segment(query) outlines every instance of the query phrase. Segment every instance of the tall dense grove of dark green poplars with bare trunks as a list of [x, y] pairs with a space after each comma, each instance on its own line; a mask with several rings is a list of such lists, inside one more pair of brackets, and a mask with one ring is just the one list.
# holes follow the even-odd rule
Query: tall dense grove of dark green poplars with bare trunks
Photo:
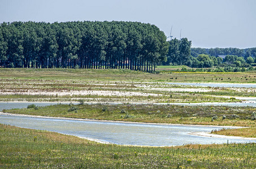
[[124, 68], [152, 71], [166, 59], [155, 25], [124, 21], [14, 22], [0, 25], [4, 68]]

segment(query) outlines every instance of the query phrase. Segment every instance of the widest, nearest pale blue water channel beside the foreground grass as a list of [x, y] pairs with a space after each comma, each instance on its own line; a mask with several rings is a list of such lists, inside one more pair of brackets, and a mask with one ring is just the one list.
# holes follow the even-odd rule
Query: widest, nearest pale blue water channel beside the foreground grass
[[59, 132], [121, 145], [173, 146], [184, 144], [256, 143], [256, 140], [223, 139], [189, 135], [222, 127], [85, 121], [0, 114], [0, 123]]

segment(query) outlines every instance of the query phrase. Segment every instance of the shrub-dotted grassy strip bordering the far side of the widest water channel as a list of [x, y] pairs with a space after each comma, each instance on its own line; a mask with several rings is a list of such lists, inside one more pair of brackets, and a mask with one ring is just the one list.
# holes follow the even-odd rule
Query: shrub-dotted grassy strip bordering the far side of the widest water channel
[[[136, 104], [51, 105], [36, 109], [3, 110], [6, 113], [49, 117], [86, 118], [130, 122], [256, 126], [252, 107], [178, 106]], [[225, 118], [223, 118], [225, 117]]]

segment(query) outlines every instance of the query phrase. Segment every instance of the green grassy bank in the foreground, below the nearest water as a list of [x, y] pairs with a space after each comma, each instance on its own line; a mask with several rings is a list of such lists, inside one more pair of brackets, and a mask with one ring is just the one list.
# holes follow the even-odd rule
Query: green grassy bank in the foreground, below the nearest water
[[255, 144], [136, 147], [0, 124], [0, 168], [255, 168]]

